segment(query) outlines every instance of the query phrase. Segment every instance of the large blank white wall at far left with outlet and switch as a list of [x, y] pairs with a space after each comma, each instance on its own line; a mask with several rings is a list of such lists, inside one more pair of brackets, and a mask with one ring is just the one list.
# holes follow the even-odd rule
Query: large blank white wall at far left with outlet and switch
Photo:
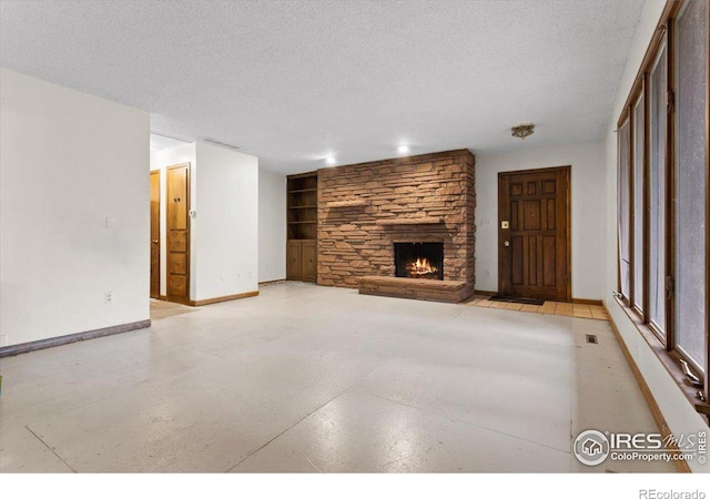
[[149, 114], [4, 69], [0, 101], [3, 345], [148, 319]]

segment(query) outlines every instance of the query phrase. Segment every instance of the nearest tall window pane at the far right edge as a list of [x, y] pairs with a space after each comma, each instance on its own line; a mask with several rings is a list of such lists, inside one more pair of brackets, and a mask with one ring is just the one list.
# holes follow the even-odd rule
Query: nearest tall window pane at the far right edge
[[708, 2], [676, 19], [676, 346], [703, 370], [706, 309], [706, 84]]

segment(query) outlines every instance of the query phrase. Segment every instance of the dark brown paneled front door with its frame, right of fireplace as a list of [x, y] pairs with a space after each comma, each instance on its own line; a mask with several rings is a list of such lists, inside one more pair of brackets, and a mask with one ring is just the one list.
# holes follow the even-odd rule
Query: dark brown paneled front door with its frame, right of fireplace
[[571, 302], [570, 167], [498, 174], [498, 288]]

